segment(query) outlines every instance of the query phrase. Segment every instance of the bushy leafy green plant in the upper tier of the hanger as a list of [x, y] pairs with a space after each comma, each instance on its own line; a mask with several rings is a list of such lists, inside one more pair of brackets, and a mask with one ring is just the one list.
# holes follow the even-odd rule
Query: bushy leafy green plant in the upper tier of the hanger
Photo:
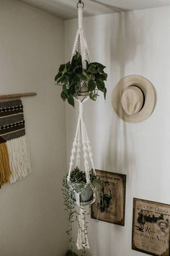
[[107, 73], [104, 72], [104, 68], [104, 65], [98, 62], [86, 61], [86, 69], [83, 69], [81, 54], [76, 51], [72, 61], [61, 64], [58, 74], [55, 75], [56, 85], [63, 89], [63, 101], [67, 100], [74, 107], [74, 97], [80, 93], [89, 93], [89, 98], [96, 101], [98, 90], [104, 93], [105, 99], [107, 88], [104, 81], [107, 80]]

